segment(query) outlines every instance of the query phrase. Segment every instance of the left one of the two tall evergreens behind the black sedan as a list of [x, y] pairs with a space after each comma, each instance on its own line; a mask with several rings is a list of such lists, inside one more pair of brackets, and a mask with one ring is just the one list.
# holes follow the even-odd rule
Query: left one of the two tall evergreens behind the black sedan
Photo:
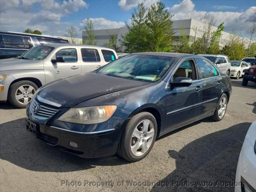
[[132, 12], [131, 25], [126, 23], [128, 33], [123, 36], [122, 45], [127, 52], [148, 51], [148, 28], [146, 26], [146, 8], [143, 3]]

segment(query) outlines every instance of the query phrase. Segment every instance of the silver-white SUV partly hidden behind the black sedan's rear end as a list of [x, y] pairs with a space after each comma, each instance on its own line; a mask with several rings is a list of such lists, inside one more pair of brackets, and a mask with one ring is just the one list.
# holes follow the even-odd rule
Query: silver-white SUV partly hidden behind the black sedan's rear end
[[230, 75], [231, 63], [226, 55], [198, 54], [213, 62], [223, 74]]

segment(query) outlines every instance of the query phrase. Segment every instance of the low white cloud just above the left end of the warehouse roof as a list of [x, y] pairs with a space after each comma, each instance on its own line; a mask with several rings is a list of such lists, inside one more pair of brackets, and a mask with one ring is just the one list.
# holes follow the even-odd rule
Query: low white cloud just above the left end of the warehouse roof
[[[116, 22], [116, 21], [111, 21], [107, 20], [106, 18], [89, 18], [92, 20], [94, 29], [112, 29], [112, 28], [120, 28], [124, 27], [125, 23], [124, 22]], [[86, 19], [83, 20], [83, 23], [80, 24], [81, 27], [84, 27], [86, 23]]]

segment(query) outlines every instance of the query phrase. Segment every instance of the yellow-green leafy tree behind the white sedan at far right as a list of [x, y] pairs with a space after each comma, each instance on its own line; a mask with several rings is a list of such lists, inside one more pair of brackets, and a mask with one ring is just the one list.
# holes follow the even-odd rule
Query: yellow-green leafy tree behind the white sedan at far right
[[230, 34], [228, 44], [222, 48], [221, 52], [230, 60], [241, 60], [246, 57], [246, 48], [238, 34]]

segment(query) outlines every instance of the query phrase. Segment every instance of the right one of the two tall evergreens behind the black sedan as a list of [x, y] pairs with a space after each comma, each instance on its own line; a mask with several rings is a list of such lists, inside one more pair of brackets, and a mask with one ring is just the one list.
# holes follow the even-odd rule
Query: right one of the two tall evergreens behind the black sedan
[[172, 16], [160, 1], [150, 6], [146, 17], [146, 25], [150, 33], [148, 37], [150, 51], [171, 50], [174, 35]]

